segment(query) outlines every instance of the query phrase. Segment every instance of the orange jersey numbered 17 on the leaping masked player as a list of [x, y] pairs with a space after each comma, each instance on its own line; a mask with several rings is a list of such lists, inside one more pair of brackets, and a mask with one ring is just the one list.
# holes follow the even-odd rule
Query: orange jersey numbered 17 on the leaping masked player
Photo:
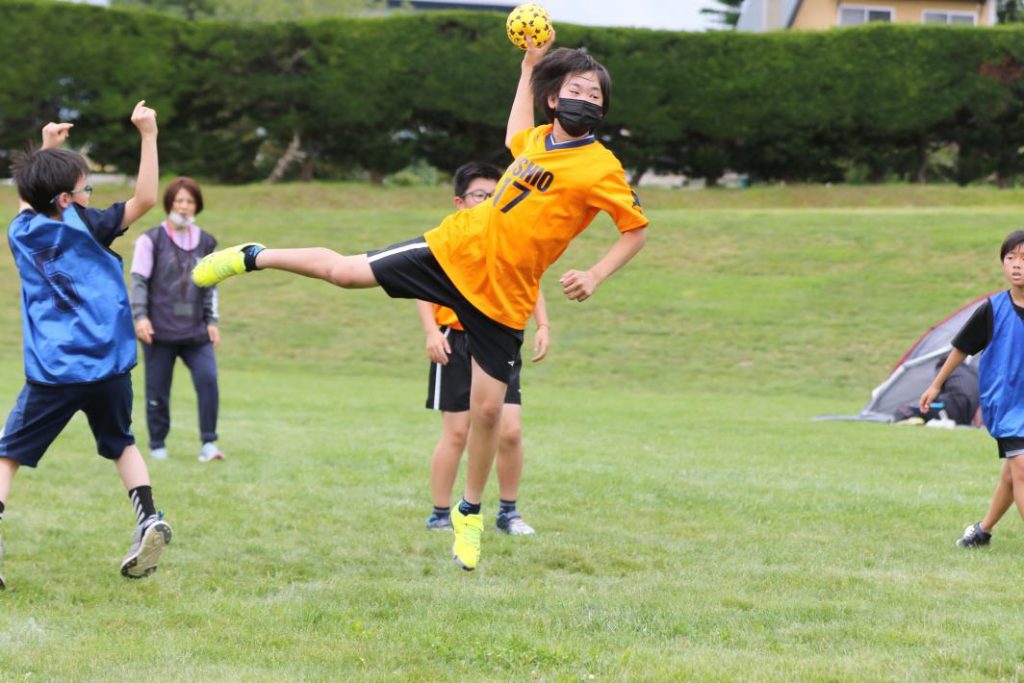
[[551, 125], [512, 138], [515, 161], [495, 197], [424, 236], [459, 292], [487, 317], [526, 327], [541, 275], [599, 211], [620, 232], [646, 227], [623, 165], [593, 136], [556, 143]]

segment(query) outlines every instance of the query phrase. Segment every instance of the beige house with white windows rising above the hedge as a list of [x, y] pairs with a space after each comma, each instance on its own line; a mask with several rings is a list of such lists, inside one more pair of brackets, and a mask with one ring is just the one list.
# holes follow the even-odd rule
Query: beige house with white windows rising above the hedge
[[996, 0], [746, 0], [740, 31], [821, 30], [868, 22], [992, 26]]

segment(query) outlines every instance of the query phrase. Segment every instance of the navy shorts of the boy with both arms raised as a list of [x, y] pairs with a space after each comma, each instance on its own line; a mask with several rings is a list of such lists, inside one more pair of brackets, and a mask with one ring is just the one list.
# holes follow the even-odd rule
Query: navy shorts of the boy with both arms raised
[[35, 467], [72, 417], [89, 419], [96, 451], [117, 460], [135, 442], [131, 431], [131, 374], [90, 384], [26, 383], [0, 436], [0, 458]]

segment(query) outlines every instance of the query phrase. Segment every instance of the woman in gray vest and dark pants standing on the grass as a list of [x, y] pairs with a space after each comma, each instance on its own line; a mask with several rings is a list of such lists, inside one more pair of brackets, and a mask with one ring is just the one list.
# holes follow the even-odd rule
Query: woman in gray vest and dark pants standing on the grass
[[139, 236], [131, 263], [131, 309], [145, 360], [145, 422], [150, 455], [167, 458], [171, 427], [170, 398], [174, 362], [181, 358], [191, 373], [199, 399], [202, 446], [199, 461], [224, 457], [217, 447], [217, 288], [199, 288], [190, 273], [217, 248], [217, 241], [196, 224], [203, 193], [191, 178], [175, 178], [164, 193], [167, 220]]

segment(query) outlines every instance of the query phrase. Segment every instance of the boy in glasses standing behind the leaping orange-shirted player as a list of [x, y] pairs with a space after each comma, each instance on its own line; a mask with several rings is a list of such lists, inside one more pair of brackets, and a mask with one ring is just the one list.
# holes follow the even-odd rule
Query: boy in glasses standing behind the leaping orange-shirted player
[[[472, 209], [494, 197], [502, 172], [490, 164], [470, 162], [455, 172], [455, 206], [459, 210]], [[427, 385], [427, 408], [441, 411], [441, 436], [430, 460], [430, 490], [434, 509], [427, 518], [429, 529], [452, 528], [452, 488], [459, 472], [459, 461], [466, 449], [469, 434], [469, 394], [472, 362], [466, 332], [455, 311], [446, 306], [419, 300], [416, 302], [420, 322], [427, 335], [427, 356], [430, 358], [430, 378]], [[548, 352], [548, 315], [544, 295], [539, 293], [537, 307], [537, 335], [534, 340], [534, 357], [537, 362]], [[502, 407], [498, 456], [499, 509], [495, 526], [509, 536], [529, 536], [534, 528], [523, 521], [516, 510], [519, 479], [522, 476], [522, 427], [519, 391], [519, 374], [522, 357], [517, 355], [505, 392]]]

